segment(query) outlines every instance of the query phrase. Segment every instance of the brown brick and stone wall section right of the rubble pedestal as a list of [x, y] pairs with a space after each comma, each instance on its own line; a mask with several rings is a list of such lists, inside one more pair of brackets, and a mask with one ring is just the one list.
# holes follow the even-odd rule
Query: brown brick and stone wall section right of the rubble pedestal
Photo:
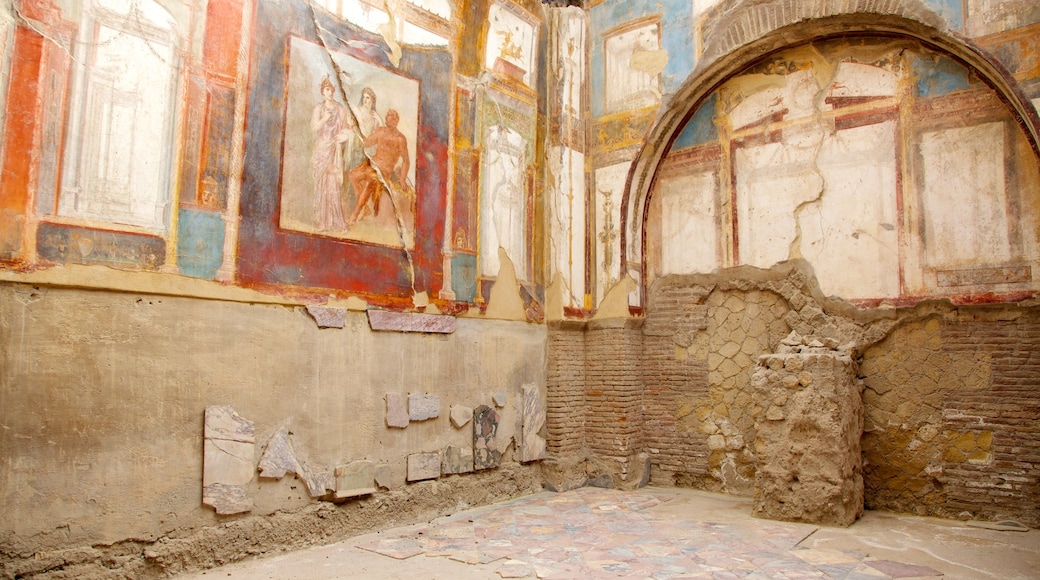
[[1040, 312], [909, 321], [860, 372], [868, 507], [1040, 526]]

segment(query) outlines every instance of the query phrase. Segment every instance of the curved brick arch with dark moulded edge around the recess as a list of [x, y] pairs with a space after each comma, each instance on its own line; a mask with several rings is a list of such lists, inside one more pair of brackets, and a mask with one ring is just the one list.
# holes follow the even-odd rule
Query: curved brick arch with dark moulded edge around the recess
[[[847, 5], [842, 10], [842, 4]], [[853, 4], [848, 7], [848, 4]], [[665, 106], [632, 162], [621, 205], [621, 259], [641, 281], [645, 306], [647, 264], [645, 223], [657, 170], [672, 143], [716, 89], [763, 57], [811, 42], [870, 36], [913, 39], [970, 69], [989, 84], [1040, 154], [1040, 117], [1011, 73], [994, 55], [946, 27], [914, 0], [813, 0], [768, 2], [726, 0], [706, 16], [703, 58]]]

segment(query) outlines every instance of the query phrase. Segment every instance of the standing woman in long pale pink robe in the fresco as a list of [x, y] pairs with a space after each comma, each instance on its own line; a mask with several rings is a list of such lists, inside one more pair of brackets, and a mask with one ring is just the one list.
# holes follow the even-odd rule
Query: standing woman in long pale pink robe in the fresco
[[343, 206], [343, 143], [350, 136], [354, 118], [346, 107], [336, 102], [336, 87], [329, 77], [319, 85], [321, 102], [311, 113], [314, 150], [311, 153], [311, 175], [314, 177], [314, 215], [319, 231], [344, 230]]

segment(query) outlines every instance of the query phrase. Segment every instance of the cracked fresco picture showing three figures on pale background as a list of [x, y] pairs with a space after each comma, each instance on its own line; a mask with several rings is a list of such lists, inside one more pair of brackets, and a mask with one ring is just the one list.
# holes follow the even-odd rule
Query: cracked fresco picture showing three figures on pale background
[[[289, 45], [281, 227], [413, 247], [419, 83], [341, 52], [332, 52], [333, 65], [321, 46], [298, 37]], [[332, 86], [328, 101], [323, 80]], [[380, 167], [389, 188], [370, 172], [384, 158], [381, 148], [396, 150]]]

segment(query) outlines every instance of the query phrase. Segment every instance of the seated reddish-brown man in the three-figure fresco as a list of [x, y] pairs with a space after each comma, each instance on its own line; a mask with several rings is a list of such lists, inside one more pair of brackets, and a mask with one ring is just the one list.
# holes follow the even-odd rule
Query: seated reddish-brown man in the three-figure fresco
[[[408, 139], [397, 130], [398, 121], [400, 115], [397, 111], [389, 109], [386, 125], [376, 127], [371, 135], [365, 137], [366, 151], [372, 148], [375, 152], [367, 161], [350, 169], [350, 185], [358, 196], [358, 202], [346, 220], [347, 226], [354, 226], [369, 212], [372, 215], [379, 214], [384, 183], [391, 195], [396, 195], [408, 187], [411, 161], [408, 155]], [[369, 203], [372, 206], [370, 209]]]

